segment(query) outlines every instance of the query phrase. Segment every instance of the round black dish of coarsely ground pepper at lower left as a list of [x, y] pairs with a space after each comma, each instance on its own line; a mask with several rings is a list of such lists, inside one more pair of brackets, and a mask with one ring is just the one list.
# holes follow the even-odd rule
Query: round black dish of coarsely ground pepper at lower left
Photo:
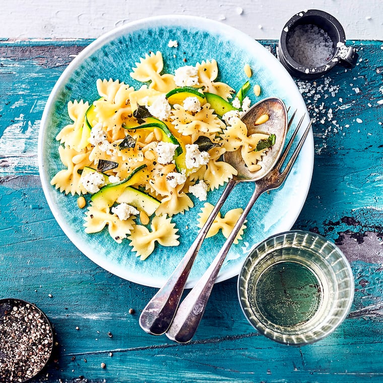
[[39, 308], [22, 299], [0, 299], [0, 382], [32, 379], [52, 349], [52, 327]]

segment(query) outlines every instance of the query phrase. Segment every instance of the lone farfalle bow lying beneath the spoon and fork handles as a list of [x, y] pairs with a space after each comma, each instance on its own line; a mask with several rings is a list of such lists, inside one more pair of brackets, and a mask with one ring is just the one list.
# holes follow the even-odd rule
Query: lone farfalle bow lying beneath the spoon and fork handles
[[[205, 203], [204, 207], [201, 209], [201, 212], [199, 213], [199, 219], [198, 219], [198, 225], [197, 225], [199, 228], [202, 228], [205, 225], [213, 209], [214, 209], [214, 206], [212, 204], [209, 204], [208, 202]], [[212, 237], [216, 235], [219, 232], [219, 230], [222, 230], [222, 234], [225, 236], [225, 238], [227, 238], [230, 235], [230, 233], [233, 231], [233, 228], [235, 224], [237, 223], [239, 217], [241, 216], [242, 212], [243, 212], [243, 209], [241, 208], [231, 209], [225, 214], [224, 217], [221, 217], [221, 213], [218, 212], [212, 226], [210, 227], [208, 231], [207, 237]], [[243, 224], [237, 236], [234, 239], [235, 244], [238, 243], [240, 239], [242, 239], [242, 234], [245, 228], [246, 228], [246, 225]]]

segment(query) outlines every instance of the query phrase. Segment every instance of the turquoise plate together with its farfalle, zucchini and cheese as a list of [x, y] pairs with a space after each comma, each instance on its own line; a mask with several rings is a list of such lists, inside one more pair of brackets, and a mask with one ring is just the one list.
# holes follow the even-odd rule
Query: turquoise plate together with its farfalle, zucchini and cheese
[[[44, 109], [39, 172], [53, 216], [100, 267], [162, 286], [236, 173], [223, 154], [242, 150], [249, 169], [262, 167], [275, 137], [247, 135], [240, 116], [266, 97], [308, 123], [279, 61], [222, 23], [163, 16], [101, 36], [62, 73]], [[284, 185], [253, 206], [217, 281], [236, 276], [253, 245], [292, 227], [312, 168], [311, 133]], [[208, 268], [253, 188], [239, 184], [225, 202], [186, 287]]]

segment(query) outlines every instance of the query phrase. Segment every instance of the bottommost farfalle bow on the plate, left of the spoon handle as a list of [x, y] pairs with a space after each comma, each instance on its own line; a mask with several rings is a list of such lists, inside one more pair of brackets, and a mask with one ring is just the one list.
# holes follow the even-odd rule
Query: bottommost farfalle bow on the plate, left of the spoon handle
[[158, 242], [162, 246], [178, 246], [179, 241], [177, 235], [178, 229], [175, 223], [171, 222], [171, 218], [166, 215], [155, 216], [150, 225], [151, 231], [142, 225], [136, 225], [131, 234], [127, 237], [131, 241], [133, 251], [137, 252], [137, 257], [141, 261], [150, 256]]

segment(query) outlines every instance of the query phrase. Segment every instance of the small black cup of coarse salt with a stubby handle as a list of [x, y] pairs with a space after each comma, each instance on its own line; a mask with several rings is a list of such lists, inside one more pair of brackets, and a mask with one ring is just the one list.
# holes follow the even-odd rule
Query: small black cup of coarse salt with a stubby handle
[[311, 80], [338, 63], [353, 68], [358, 54], [345, 45], [342, 25], [332, 15], [308, 10], [294, 15], [284, 26], [278, 44], [278, 58], [295, 77]]

